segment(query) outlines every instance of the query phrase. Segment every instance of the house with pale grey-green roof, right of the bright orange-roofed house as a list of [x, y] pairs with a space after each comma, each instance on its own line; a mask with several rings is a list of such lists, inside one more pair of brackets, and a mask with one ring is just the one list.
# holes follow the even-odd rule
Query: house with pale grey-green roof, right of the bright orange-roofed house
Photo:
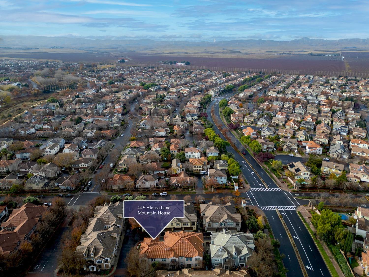
[[255, 250], [251, 233], [223, 229], [222, 232], [212, 232], [210, 240], [211, 265], [214, 268], [247, 267], [247, 261]]

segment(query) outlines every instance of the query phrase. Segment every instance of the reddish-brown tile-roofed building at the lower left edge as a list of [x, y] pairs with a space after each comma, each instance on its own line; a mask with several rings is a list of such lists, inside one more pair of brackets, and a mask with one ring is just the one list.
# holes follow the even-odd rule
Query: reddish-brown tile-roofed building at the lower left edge
[[29, 202], [14, 209], [0, 225], [0, 255], [10, 254], [23, 240], [28, 240], [46, 210], [46, 206], [36, 206]]

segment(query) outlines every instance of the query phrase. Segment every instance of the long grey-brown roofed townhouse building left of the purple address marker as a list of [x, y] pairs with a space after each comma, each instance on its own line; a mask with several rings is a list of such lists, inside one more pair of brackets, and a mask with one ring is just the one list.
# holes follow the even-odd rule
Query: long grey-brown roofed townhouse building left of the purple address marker
[[81, 244], [75, 254], [86, 263], [84, 270], [98, 271], [110, 269], [114, 263], [117, 247], [124, 225], [123, 202], [105, 203], [97, 206], [90, 218]]

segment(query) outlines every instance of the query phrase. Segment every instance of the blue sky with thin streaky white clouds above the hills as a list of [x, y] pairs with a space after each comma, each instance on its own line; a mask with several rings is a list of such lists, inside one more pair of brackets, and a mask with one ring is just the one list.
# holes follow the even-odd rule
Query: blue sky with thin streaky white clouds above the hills
[[0, 0], [0, 35], [186, 41], [368, 38], [368, 12], [368, 0]]

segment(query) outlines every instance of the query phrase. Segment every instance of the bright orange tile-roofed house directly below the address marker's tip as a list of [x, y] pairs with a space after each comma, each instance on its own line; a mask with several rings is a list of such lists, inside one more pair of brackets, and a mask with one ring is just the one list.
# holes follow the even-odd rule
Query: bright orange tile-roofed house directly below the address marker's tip
[[166, 269], [203, 266], [203, 233], [167, 231], [164, 240], [159, 239], [144, 238], [139, 249], [140, 262], [158, 262]]

